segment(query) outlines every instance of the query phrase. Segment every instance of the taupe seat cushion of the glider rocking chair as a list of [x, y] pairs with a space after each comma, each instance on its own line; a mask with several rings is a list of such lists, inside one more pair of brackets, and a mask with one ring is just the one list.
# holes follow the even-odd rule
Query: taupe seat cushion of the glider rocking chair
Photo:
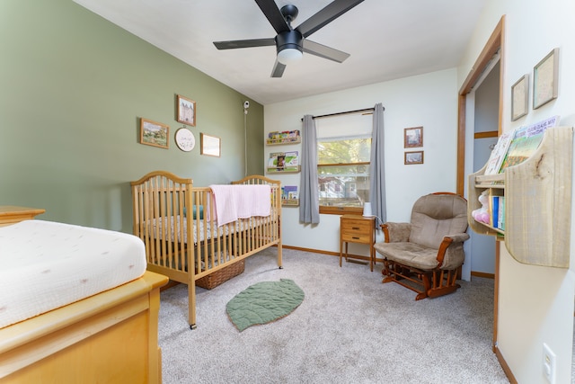
[[376, 251], [388, 260], [403, 263], [422, 270], [438, 266], [438, 250], [415, 243], [376, 243]]

